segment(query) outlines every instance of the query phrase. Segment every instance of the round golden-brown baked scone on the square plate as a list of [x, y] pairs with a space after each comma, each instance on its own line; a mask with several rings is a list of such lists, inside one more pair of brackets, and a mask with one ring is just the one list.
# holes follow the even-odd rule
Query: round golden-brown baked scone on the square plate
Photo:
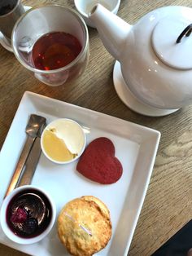
[[111, 238], [107, 206], [94, 196], [82, 196], [64, 205], [58, 217], [60, 241], [75, 256], [90, 256]]

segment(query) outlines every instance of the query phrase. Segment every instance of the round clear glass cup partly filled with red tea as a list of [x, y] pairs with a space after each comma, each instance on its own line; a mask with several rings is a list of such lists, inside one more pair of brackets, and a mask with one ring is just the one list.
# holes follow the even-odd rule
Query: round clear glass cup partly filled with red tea
[[[73, 42], [70, 46], [68, 42], [63, 45], [65, 39], [61, 38], [64, 36], [80, 44], [81, 49], [76, 51], [76, 55], [70, 48]], [[17, 60], [49, 86], [60, 86], [79, 77], [89, 59], [89, 34], [85, 21], [76, 11], [59, 5], [46, 5], [27, 11], [16, 22], [11, 42]], [[65, 62], [64, 59], [70, 54], [72, 58], [69, 56], [68, 62]], [[38, 57], [41, 57], [40, 65]]]

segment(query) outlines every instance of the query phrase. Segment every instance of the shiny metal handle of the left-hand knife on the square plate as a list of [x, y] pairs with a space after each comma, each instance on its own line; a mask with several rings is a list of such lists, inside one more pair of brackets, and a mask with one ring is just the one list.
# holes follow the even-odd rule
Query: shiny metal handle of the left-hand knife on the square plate
[[12, 175], [11, 182], [9, 183], [9, 186], [7, 188], [5, 197], [16, 187], [20, 179], [20, 174], [22, 173], [22, 170], [24, 168], [25, 161], [28, 158], [28, 154], [33, 146], [34, 140], [35, 140], [35, 137], [32, 137], [32, 136], [28, 136], [28, 138], [26, 139], [24, 148], [20, 154], [20, 159], [17, 162], [17, 165], [15, 167], [15, 171], [14, 171], [14, 174]]

